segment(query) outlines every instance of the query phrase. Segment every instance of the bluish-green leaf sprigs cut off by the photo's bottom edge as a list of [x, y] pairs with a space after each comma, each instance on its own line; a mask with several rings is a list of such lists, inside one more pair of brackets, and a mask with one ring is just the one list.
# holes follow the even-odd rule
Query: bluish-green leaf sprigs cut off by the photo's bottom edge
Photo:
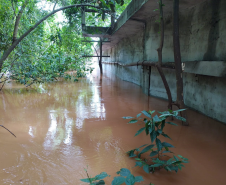
[[[86, 179], [80, 179], [82, 182], [87, 182], [90, 185], [104, 185], [105, 181], [103, 180], [106, 177], [110, 177], [106, 172], [102, 172], [99, 175], [96, 175], [95, 177], [91, 178], [89, 177], [89, 174], [87, 170], [85, 169], [87, 177]], [[130, 170], [127, 168], [122, 168], [120, 171], [117, 172], [118, 175], [117, 177], [114, 177], [111, 185], [121, 185], [121, 184], [126, 184], [126, 185], [134, 185], [136, 182], [141, 182], [144, 181], [142, 176], [134, 176], [131, 174]]]

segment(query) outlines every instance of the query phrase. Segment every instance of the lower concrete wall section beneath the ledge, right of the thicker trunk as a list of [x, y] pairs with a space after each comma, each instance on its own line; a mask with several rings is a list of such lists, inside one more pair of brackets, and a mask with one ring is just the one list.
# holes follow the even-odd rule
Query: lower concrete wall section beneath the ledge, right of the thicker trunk
[[226, 123], [226, 78], [184, 74], [185, 104]]

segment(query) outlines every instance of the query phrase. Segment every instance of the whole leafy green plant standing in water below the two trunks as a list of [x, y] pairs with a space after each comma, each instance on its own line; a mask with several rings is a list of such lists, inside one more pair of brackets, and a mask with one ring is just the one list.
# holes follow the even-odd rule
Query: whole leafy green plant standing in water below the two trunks
[[[155, 115], [153, 116], [153, 113], [155, 111], [142, 111], [139, 113], [136, 118], [134, 117], [123, 117], [124, 119], [131, 119], [128, 123], [137, 123], [138, 121], [141, 121], [142, 124], [144, 124], [144, 127], [139, 129], [135, 136], [139, 135], [143, 131], [145, 131], [146, 135], [150, 136], [151, 145], [142, 145], [138, 148], [135, 148], [133, 150], [128, 151], [129, 157], [137, 157], [136, 159], [136, 165], [139, 167], [143, 167], [143, 170], [147, 173], [150, 173], [150, 171], [154, 172], [156, 169], [164, 168], [167, 171], [175, 171], [177, 172], [179, 169], [181, 170], [182, 167], [184, 167], [183, 163], [188, 163], [188, 159], [184, 158], [181, 155], [173, 155], [173, 157], [169, 157], [167, 154], [173, 153], [170, 151], [170, 148], [173, 148], [174, 146], [167, 142], [162, 142], [159, 139], [159, 136], [163, 136], [165, 138], [171, 139], [166, 133], [164, 133], [164, 127], [166, 124], [177, 126], [177, 124], [173, 122], [167, 122], [166, 119], [169, 117], [174, 117], [178, 120], [181, 120], [183, 122], [186, 121], [181, 116], [178, 116], [179, 112], [183, 111], [185, 109], [181, 110], [168, 110], [165, 112], [159, 112], [161, 115]], [[146, 118], [142, 118], [141, 115], [145, 115]], [[143, 148], [145, 147], [145, 148]], [[143, 148], [141, 150], [141, 148]], [[148, 163], [147, 159], [141, 159], [141, 155], [150, 152], [149, 156], [151, 158], [151, 164]]]

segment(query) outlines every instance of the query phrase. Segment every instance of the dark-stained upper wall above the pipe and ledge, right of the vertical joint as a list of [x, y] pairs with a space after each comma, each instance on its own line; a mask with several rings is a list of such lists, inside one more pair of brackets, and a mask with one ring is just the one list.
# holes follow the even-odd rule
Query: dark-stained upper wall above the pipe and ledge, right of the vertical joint
[[[226, 61], [226, 1], [208, 0], [180, 14], [182, 61]], [[158, 17], [147, 22], [146, 59], [157, 61]], [[173, 62], [172, 14], [165, 16], [164, 61]]]

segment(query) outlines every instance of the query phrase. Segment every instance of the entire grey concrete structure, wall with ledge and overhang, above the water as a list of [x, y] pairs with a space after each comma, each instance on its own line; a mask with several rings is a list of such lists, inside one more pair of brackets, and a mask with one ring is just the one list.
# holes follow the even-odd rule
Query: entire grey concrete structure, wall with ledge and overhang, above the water
[[[125, 66], [138, 62], [157, 62], [159, 12], [157, 0], [133, 0], [114, 27], [90, 34], [111, 41], [103, 43], [103, 73], [135, 83], [145, 94], [167, 99], [156, 67]], [[163, 65], [174, 62], [173, 0], [163, 0], [165, 43]], [[180, 0], [180, 46], [183, 62], [185, 105], [226, 123], [226, 1]], [[100, 30], [101, 30], [100, 29]], [[173, 100], [176, 76], [173, 67], [164, 68]]]

